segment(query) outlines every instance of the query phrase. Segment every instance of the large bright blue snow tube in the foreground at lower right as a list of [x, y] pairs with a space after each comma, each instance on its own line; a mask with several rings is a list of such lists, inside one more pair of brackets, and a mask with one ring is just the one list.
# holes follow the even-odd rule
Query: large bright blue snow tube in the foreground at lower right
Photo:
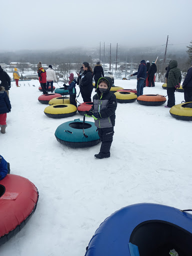
[[[91, 238], [85, 256], [178, 255], [192, 251], [192, 215], [166, 205], [138, 203], [107, 217]], [[132, 253], [132, 246], [138, 253]], [[130, 252], [131, 251], [131, 252]]]

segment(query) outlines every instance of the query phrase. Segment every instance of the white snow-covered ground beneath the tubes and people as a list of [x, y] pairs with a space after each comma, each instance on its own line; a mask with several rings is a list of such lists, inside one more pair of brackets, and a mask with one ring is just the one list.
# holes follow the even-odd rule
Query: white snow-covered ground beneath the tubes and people
[[[19, 83], [11, 82], [12, 109], [6, 133], [0, 133], [0, 154], [11, 173], [35, 184], [39, 200], [26, 226], [0, 247], [1, 255], [84, 255], [99, 224], [121, 207], [139, 202], [191, 207], [191, 121], [176, 120], [165, 104], [118, 103], [111, 157], [94, 159], [100, 144], [72, 149], [54, 136], [59, 124], [82, 116], [48, 118], [47, 105], [37, 100], [39, 82]], [[115, 85], [133, 89], [136, 80]], [[144, 94], [166, 95], [162, 83], [155, 85]], [[183, 93], [175, 92], [175, 99], [181, 103]]]

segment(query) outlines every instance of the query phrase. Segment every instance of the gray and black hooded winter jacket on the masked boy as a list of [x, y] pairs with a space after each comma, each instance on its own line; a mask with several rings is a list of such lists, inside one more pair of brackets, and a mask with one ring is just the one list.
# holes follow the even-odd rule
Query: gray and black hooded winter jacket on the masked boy
[[104, 91], [102, 95], [97, 87], [97, 93], [93, 96], [93, 106], [90, 111], [92, 111], [93, 113], [99, 112], [100, 118], [94, 120], [95, 126], [98, 128], [107, 128], [114, 126], [117, 102], [116, 96], [110, 92], [110, 87], [112, 85], [111, 78], [108, 76], [104, 76], [101, 78], [106, 79], [109, 86], [107, 91]]

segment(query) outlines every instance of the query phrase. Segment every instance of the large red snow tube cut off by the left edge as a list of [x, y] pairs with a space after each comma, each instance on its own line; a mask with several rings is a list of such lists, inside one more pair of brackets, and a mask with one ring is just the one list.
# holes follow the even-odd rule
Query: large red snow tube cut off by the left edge
[[27, 223], [37, 200], [38, 190], [27, 178], [7, 174], [0, 180], [0, 245]]

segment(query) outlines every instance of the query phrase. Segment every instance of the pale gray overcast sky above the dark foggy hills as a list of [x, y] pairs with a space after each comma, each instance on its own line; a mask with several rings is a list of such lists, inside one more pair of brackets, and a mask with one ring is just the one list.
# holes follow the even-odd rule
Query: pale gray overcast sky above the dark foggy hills
[[141, 47], [192, 40], [192, 0], [3, 0], [0, 51], [116, 43]]

